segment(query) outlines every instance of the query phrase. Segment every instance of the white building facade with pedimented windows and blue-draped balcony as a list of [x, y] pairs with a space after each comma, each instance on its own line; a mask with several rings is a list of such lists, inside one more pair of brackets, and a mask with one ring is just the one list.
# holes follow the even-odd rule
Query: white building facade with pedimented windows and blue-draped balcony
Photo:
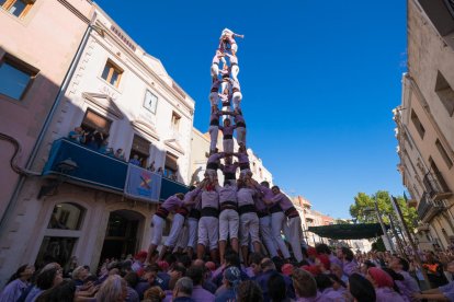
[[[1, 280], [24, 263], [67, 268], [77, 258], [94, 271], [107, 257], [145, 249], [159, 199], [185, 191], [191, 181], [194, 100], [93, 5], [87, 45], [33, 164], [45, 177], [25, 181], [2, 237]], [[63, 139], [77, 126], [103, 133], [125, 161]], [[66, 160], [56, 162], [61, 153]], [[144, 172], [154, 163], [164, 176], [177, 175], [177, 182], [162, 178], [151, 202], [123, 191], [134, 155]]]

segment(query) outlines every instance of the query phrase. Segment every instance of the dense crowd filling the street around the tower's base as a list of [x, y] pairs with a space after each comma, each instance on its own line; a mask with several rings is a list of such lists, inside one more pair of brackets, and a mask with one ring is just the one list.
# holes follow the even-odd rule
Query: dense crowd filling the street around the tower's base
[[[93, 275], [89, 267], [77, 266], [67, 278], [57, 263], [43, 264], [36, 271], [23, 265], [0, 293], [0, 302], [454, 301], [453, 281], [421, 291], [417, 268], [390, 253], [354, 254], [326, 244], [303, 247], [302, 253], [299, 263], [261, 253], [241, 262], [229, 247], [216, 264], [209, 256], [196, 259], [168, 252], [160, 259], [157, 251], [150, 257], [141, 251], [133, 258], [107, 259]], [[423, 255], [424, 263], [440, 262], [431, 255]], [[454, 262], [445, 268], [454, 274]]]

